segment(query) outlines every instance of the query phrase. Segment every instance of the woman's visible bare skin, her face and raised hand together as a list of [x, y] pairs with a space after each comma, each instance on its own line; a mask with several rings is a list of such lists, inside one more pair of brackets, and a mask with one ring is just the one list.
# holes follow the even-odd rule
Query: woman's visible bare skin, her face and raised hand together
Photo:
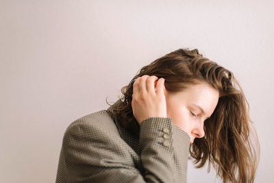
[[195, 138], [205, 135], [203, 123], [214, 112], [218, 100], [218, 90], [209, 84], [192, 84], [183, 91], [169, 93], [164, 87], [164, 78], [143, 75], [134, 82], [132, 110], [139, 124], [149, 117], [171, 118], [193, 143]]

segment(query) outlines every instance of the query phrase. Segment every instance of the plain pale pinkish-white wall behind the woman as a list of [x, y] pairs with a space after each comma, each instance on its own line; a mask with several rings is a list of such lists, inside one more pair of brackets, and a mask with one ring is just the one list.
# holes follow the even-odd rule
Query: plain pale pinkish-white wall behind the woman
[[[273, 1], [0, 1], [0, 182], [55, 182], [66, 127], [179, 48], [232, 71], [273, 182]], [[220, 182], [188, 164], [188, 182]]]

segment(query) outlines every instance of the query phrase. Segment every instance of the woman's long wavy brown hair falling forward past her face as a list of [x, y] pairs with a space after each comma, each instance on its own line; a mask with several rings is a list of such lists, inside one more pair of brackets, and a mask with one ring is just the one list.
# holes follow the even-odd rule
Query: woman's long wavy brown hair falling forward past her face
[[190, 144], [190, 158], [196, 168], [208, 161], [208, 172], [212, 164], [223, 182], [254, 182], [260, 144], [249, 117], [249, 103], [231, 71], [203, 57], [198, 49], [177, 49], [143, 66], [121, 89], [122, 106], [114, 109], [122, 125], [136, 135], [140, 126], [131, 103], [134, 81], [142, 75], [164, 77], [166, 90], [171, 93], [201, 82], [219, 90], [217, 106], [204, 123], [205, 136]]

